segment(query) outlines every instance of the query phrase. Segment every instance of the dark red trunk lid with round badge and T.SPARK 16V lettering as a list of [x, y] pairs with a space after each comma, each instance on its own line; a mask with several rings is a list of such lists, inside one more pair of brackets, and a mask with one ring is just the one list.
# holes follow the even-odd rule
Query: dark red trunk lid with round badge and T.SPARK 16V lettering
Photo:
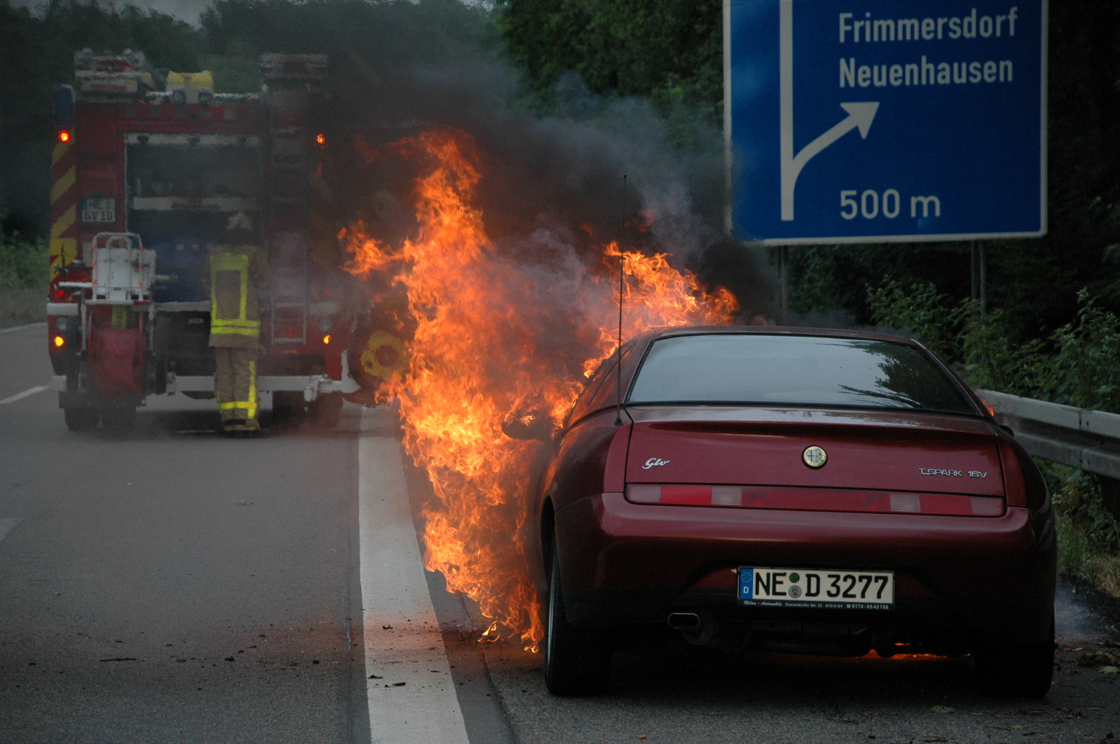
[[[631, 484], [1004, 496], [998, 439], [979, 418], [730, 407], [629, 412]], [[805, 463], [810, 447], [824, 450], [822, 466]]]

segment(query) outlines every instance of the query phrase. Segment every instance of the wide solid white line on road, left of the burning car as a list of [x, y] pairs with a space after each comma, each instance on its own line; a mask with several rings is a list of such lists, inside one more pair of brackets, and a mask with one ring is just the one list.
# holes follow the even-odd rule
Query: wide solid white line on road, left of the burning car
[[[428, 595], [400, 444], [376, 436], [384, 409], [362, 412], [358, 534], [373, 744], [469, 744]], [[404, 682], [401, 685], [401, 682]]]

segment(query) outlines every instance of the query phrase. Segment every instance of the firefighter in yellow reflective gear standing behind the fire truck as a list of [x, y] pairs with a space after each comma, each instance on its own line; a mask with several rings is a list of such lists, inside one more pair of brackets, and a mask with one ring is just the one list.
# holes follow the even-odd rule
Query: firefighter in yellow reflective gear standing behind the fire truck
[[225, 240], [211, 248], [206, 279], [211, 291], [211, 337], [214, 347], [214, 393], [226, 433], [259, 431], [256, 357], [261, 308], [256, 290], [267, 280], [265, 259], [254, 244], [253, 221], [230, 217]]

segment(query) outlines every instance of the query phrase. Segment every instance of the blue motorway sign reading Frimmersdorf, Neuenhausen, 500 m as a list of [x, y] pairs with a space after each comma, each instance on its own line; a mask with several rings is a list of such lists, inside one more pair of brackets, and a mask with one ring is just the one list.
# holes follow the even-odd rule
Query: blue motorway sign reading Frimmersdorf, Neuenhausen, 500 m
[[1046, 0], [730, 0], [736, 232], [1046, 232]]

